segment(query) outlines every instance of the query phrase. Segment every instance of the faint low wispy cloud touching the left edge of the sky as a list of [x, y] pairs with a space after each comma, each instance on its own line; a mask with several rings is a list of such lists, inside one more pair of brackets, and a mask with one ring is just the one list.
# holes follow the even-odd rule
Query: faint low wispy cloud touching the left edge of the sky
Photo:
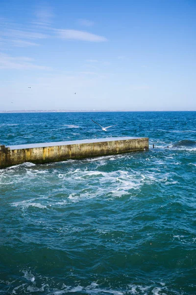
[[33, 59], [27, 57], [11, 57], [7, 54], [0, 53], [0, 69], [36, 69], [50, 70], [51, 68], [33, 63]]

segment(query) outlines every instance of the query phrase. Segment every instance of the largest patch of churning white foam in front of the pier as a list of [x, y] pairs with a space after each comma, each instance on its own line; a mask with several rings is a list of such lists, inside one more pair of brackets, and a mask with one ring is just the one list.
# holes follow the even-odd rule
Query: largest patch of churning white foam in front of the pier
[[[81, 169], [71, 170], [65, 174], [59, 174], [59, 178], [69, 185], [72, 182], [73, 192], [69, 194], [68, 199], [72, 202], [96, 198], [96, 197], [121, 197], [130, 194], [130, 190], [140, 189], [144, 180], [139, 172], [127, 172], [123, 170], [112, 172], [87, 171]], [[89, 179], [94, 179], [93, 185]], [[77, 188], [82, 183], [84, 188]], [[96, 181], [96, 186], [95, 186]], [[80, 187], [80, 185], [79, 185]], [[58, 189], [59, 192], [61, 189]], [[63, 189], [64, 191], [64, 189]]]

